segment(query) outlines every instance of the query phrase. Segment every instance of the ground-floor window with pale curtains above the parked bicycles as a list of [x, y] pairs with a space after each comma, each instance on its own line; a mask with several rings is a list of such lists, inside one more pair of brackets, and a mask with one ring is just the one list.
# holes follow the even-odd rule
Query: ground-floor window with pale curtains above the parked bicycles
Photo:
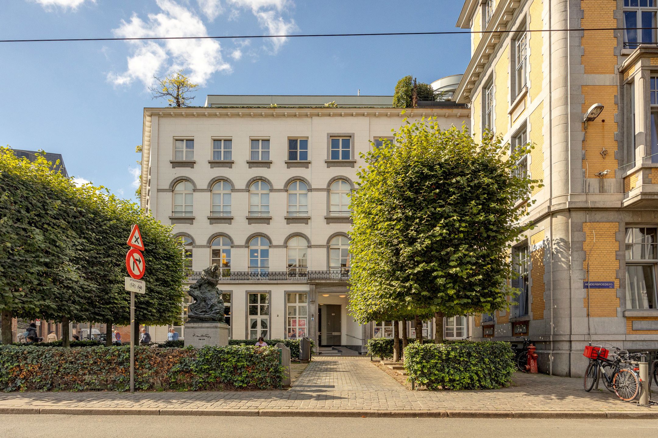
[[653, 227], [626, 229], [626, 309], [658, 309], [657, 234]]

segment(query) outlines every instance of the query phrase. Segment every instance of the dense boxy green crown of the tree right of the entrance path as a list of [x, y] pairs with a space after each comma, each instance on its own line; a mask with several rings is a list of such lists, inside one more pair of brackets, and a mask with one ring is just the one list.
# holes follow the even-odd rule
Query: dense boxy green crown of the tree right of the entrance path
[[367, 322], [397, 304], [440, 322], [506, 308], [507, 255], [528, 229], [518, 201], [539, 183], [517, 167], [530, 146], [476, 144], [436, 118], [406, 121], [394, 137], [365, 155], [351, 199], [352, 315]]

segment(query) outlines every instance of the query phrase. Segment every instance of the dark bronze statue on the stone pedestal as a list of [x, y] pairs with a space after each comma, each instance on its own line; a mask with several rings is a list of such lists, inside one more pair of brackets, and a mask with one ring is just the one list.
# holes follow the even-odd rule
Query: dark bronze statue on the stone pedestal
[[190, 286], [188, 294], [194, 303], [188, 307], [190, 322], [224, 322], [224, 300], [217, 288], [219, 267], [213, 265], [203, 270], [201, 278]]

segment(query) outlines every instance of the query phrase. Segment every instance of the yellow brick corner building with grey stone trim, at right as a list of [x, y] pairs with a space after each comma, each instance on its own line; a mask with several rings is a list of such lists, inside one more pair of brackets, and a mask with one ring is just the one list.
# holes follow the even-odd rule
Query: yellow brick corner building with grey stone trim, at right
[[457, 21], [477, 32], [455, 93], [474, 136], [534, 144], [520, 165], [544, 183], [512, 250], [519, 296], [472, 334], [529, 336], [542, 372], [582, 376], [590, 341], [658, 350], [658, 35], [589, 30], [657, 15], [651, 0], [465, 0]]

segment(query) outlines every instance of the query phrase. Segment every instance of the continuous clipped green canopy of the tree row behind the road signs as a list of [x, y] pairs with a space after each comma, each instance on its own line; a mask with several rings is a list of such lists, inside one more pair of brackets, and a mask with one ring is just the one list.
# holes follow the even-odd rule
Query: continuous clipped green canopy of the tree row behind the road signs
[[127, 324], [126, 240], [138, 224], [146, 245], [136, 318], [180, 319], [184, 261], [171, 227], [139, 206], [91, 184], [76, 186], [51, 170], [0, 148], [0, 311], [15, 317]]

